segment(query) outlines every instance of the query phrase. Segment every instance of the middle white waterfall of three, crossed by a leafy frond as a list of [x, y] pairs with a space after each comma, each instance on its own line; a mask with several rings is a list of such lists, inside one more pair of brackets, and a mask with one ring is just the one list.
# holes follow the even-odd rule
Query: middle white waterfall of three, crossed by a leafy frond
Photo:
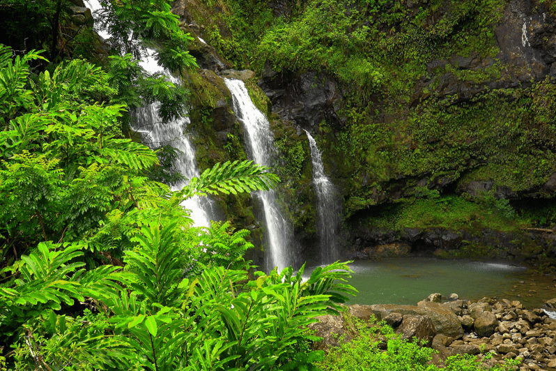
[[[276, 153], [276, 146], [270, 123], [263, 112], [253, 104], [245, 84], [238, 79], [224, 79], [233, 98], [233, 112], [242, 121], [249, 139], [249, 151], [252, 159], [259, 165], [271, 166]], [[270, 254], [266, 253], [267, 269], [278, 267], [279, 270], [292, 264], [291, 246], [292, 226], [281, 215], [276, 203], [274, 190], [256, 192], [254, 195], [263, 203], [265, 232]], [[268, 270], [270, 270], [268, 269]]]

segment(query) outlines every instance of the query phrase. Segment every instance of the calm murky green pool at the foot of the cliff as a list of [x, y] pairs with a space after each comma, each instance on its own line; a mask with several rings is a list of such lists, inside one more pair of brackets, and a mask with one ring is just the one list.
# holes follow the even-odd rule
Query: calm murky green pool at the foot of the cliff
[[440, 292], [442, 296], [456, 293], [467, 300], [508, 298], [533, 308], [556, 297], [551, 278], [533, 275], [512, 262], [407, 257], [357, 261], [350, 268], [353, 273], [348, 283], [360, 292], [350, 304], [415, 305], [429, 294]]

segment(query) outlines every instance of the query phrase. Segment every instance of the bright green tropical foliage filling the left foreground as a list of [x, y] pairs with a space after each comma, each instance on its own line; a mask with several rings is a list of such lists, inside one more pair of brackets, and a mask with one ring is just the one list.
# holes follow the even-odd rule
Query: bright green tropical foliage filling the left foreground
[[157, 154], [122, 137], [109, 74], [73, 60], [34, 75], [36, 59], [0, 47], [0, 367], [270, 370], [321, 358], [305, 328], [354, 292], [347, 266], [253, 273], [247, 230], [194, 228], [180, 206], [269, 190], [277, 176], [226, 162], [171, 192], [148, 177]]

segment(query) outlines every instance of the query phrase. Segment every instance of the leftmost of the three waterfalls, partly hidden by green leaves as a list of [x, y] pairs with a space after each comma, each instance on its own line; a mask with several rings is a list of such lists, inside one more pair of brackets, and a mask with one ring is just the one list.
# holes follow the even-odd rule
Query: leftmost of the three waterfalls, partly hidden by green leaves
[[[86, 4], [93, 10], [101, 8], [98, 0], [87, 0]], [[110, 35], [97, 30], [103, 38], [109, 38]], [[160, 66], [153, 59], [153, 50], [147, 49], [148, 55], [139, 62], [148, 73], [165, 73]], [[171, 77], [165, 73], [174, 84], [181, 84], [179, 79]], [[139, 132], [142, 136], [143, 142], [150, 148], [157, 148], [170, 144], [173, 148], [178, 149], [178, 158], [176, 159], [176, 168], [187, 179], [199, 176], [195, 162], [195, 151], [193, 150], [190, 138], [185, 135], [187, 123], [190, 122], [189, 118], [182, 117], [173, 120], [169, 123], [162, 124], [158, 107], [159, 103], [152, 103], [141, 107], [137, 110], [137, 123], [132, 129]], [[174, 185], [172, 190], [181, 190], [185, 183]], [[215, 213], [213, 212], [213, 202], [207, 197], [195, 196], [187, 199], [181, 204], [185, 209], [191, 210], [191, 218], [193, 219], [196, 227], [209, 227], [210, 220]]]

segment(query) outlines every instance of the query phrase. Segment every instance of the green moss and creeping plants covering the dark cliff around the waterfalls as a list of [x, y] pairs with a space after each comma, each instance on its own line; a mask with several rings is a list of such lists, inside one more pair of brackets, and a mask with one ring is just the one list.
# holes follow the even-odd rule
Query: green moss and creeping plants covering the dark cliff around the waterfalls
[[[325, 168], [344, 195], [346, 217], [398, 199], [389, 209], [395, 218], [388, 221], [396, 228], [511, 232], [527, 220], [502, 218], [504, 210], [495, 204], [417, 195], [417, 185], [492, 180], [495, 187], [523, 196], [537, 192], [556, 169], [555, 85], [547, 79], [518, 89], [486, 88], [524, 72], [495, 59], [493, 30], [506, 3], [302, 1], [288, 3], [286, 16], [272, 17], [265, 1], [220, 0], [199, 3], [204, 10], [194, 17], [235, 68], [260, 73], [268, 60], [275, 70], [312, 68], [339, 81], [346, 121], [321, 123], [315, 136]], [[212, 12], [217, 4], [222, 11]], [[476, 59], [479, 67], [459, 66], [456, 61], [463, 57]], [[197, 86], [196, 105], [214, 107], [213, 88]], [[270, 102], [256, 81], [246, 86], [255, 105], [269, 114]], [[209, 119], [200, 110], [196, 121], [210, 126]], [[275, 121], [272, 130], [282, 202], [296, 228], [311, 230], [315, 211], [307, 141], [288, 123]], [[239, 158], [241, 140], [233, 129], [222, 156]], [[207, 140], [207, 156], [215, 143]]]

